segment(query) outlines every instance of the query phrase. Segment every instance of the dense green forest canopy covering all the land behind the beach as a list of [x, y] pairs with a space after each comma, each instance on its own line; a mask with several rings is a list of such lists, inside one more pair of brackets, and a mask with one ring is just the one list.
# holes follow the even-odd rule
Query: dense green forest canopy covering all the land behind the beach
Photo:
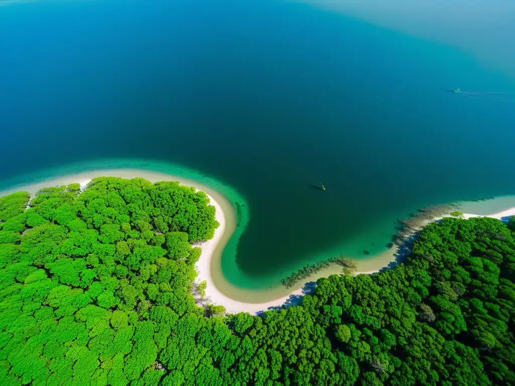
[[192, 295], [208, 198], [90, 185], [0, 200], [2, 384], [515, 385], [513, 223], [446, 218], [404, 265], [222, 317]]

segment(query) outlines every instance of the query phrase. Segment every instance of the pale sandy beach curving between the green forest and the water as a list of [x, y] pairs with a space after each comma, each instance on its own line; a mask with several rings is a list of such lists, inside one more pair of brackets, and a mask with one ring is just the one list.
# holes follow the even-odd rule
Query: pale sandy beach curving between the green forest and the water
[[[84, 189], [91, 179], [100, 176], [122, 178], [141, 177], [152, 183], [157, 181], [177, 181], [181, 185], [192, 186], [198, 190], [202, 190], [208, 195], [211, 205], [216, 209], [216, 220], [220, 223], [220, 226], [216, 229], [213, 239], [199, 245], [202, 248], [202, 253], [196, 265], [198, 272], [196, 282], [199, 283], [205, 280], [207, 282], [205, 293], [209, 303], [226, 307], [228, 313], [249, 312], [254, 314], [268, 309], [278, 308], [287, 302], [298, 303], [300, 302], [300, 297], [303, 295], [303, 287], [306, 283], [315, 282], [320, 277], [338, 274], [341, 271], [340, 266], [331, 264], [329, 267], [307, 277], [305, 280], [289, 289], [284, 286], [277, 286], [267, 289], [249, 290], [233, 286], [221, 272], [221, 254], [236, 227], [236, 211], [234, 206], [224, 196], [208, 186], [197, 181], [179, 178], [167, 173], [143, 169], [93, 170], [68, 174], [59, 178], [4, 190], [0, 192], [0, 196], [21, 190], [35, 194], [43, 187], [67, 185], [70, 183], [80, 183], [81, 188]], [[515, 215], [515, 207], [485, 217], [507, 220], [513, 215]], [[450, 215], [444, 217], [450, 217]], [[463, 218], [466, 219], [471, 217], [480, 216], [470, 213], [464, 213], [463, 215]], [[439, 218], [436, 218], [435, 221], [438, 219]], [[358, 267], [355, 274], [372, 274], [379, 272], [381, 269], [387, 267], [390, 262], [396, 260], [396, 253], [396, 248], [390, 248], [381, 254], [356, 260]]]

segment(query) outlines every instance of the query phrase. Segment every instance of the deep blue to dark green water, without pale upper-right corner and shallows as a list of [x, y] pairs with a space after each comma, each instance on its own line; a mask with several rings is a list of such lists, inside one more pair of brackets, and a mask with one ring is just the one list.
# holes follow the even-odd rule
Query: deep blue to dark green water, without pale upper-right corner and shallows
[[103, 157], [200, 170], [249, 202], [249, 275], [515, 193], [515, 77], [452, 41], [279, 0], [14, 4], [0, 37], [0, 180]]

